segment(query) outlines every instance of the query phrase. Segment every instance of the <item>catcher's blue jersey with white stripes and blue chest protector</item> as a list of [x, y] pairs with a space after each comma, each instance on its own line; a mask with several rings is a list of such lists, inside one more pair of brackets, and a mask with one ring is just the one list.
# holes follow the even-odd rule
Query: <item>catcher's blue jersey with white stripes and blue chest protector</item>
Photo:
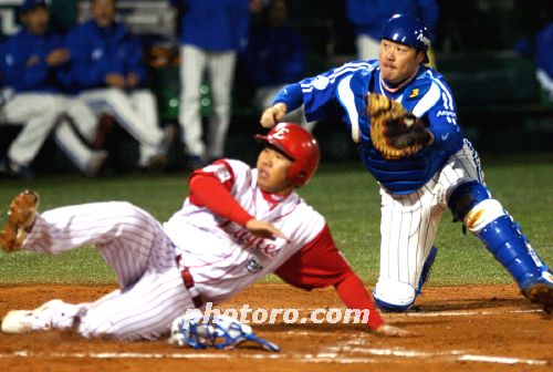
[[[442, 76], [424, 65], [394, 94], [384, 89], [379, 76], [377, 61], [349, 62], [286, 85], [274, 102], [284, 102], [289, 111], [304, 103], [307, 121], [322, 120], [337, 106], [365, 167], [390, 193], [410, 194], [421, 188], [462, 147], [465, 138], [457, 123], [456, 104]], [[371, 140], [367, 92], [385, 94], [401, 103], [428, 125], [435, 142], [410, 157], [386, 161]]]

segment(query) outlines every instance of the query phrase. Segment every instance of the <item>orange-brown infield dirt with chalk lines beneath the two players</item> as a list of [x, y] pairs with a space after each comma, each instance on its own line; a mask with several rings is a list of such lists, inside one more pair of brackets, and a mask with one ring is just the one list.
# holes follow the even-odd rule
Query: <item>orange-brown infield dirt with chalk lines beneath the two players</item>
[[[94, 300], [109, 287], [0, 287], [0, 316], [60, 298]], [[304, 292], [284, 285], [255, 285], [221, 308], [342, 308], [331, 290]], [[85, 340], [73, 333], [0, 334], [2, 371], [551, 371], [553, 320], [514, 286], [429, 287], [417, 309], [385, 314], [420, 335], [385, 339], [359, 324], [253, 326], [281, 352], [244, 345], [197, 351], [157, 342]]]

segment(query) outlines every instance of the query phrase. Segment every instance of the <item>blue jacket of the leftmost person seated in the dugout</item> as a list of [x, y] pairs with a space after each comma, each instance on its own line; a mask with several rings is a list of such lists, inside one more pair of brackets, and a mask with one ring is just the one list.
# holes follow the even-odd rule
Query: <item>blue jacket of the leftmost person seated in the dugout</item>
[[69, 79], [69, 63], [50, 66], [48, 55], [65, 48], [55, 32], [35, 35], [21, 30], [6, 42], [2, 70], [6, 83], [15, 92], [59, 92]]

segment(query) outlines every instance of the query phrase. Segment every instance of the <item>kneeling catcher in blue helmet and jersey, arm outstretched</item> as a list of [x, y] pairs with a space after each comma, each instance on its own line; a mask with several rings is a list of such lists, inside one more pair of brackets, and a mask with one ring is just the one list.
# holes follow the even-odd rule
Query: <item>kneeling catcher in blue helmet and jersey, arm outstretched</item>
[[377, 306], [409, 309], [436, 259], [436, 230], [449, 208], [511, 273], [522, 293], [553, 309], [550, 269], [483, 182], [478, 153], [458, 125], [444, 78], [425, 66], [430, 45], [416, 18], [392, 17], [378, 60], [355, 61], [286, 85], [261, 116], [271, 127], [305, 105], [309, 122], [338, 107], [363, 163], [380, 185]]

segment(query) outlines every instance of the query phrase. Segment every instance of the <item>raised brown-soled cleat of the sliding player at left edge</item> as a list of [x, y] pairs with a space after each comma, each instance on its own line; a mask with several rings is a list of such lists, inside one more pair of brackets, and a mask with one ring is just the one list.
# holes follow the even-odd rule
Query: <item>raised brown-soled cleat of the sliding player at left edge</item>
[[21, 249], [34, 224], [39, 204], [39, 195], [29, 190], [13, 198], [8, 211], [8, 221], [0, 231], [0, 248], [7, 252]]

